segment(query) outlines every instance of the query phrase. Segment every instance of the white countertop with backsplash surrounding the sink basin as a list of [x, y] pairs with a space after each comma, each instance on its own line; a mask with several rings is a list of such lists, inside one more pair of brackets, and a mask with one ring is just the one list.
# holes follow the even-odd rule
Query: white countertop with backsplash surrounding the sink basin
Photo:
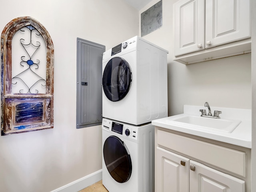
[[[212, 113], [214, 110], [222, 111], [221, 118], [240, 120], [241, 123], [231, 132], [220, 132], [207, 130], [191, 126], [190, 124], [180, 124], [172, 122], [172, 120], [184, 116], [200, 116], [200, 109], [206, 109], [204, 106], [184, 106], [184, 114], [170, 116], [158, 120], [153, 120], [152, 125], [175, 130], [187, 134], [192, 134], [220, 142], [226, 142], [237, 146], [252, 148], [252, 121], [251, 110], [248, 109], [232, 109], [211, 107]], [[206, 110], [208, 113], [208, 110]], [[206, 117], [205, 117], [206, 118]]]

